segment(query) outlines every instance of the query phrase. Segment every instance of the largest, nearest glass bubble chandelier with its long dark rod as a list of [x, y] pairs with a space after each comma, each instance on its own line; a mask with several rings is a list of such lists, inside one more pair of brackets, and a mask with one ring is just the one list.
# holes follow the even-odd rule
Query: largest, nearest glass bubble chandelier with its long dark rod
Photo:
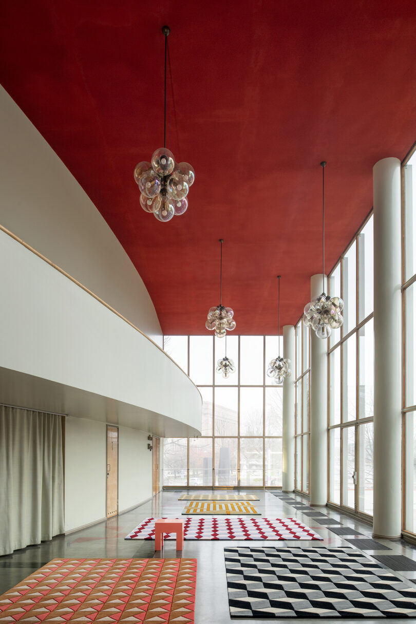
[[140, 188], [140, 205], [152, 212], [158, 221], [170, 221], [175, 215], [183, 215], [188, 208], [188, 190], [195, 180], [195, 171], [187, 162], [175, 162], [166, 149], [166, 68], [168, 35], [170, 28], [162, 27], [165, 36], [165, 122], [164, 142], [152, 155], [152, 162], [139, 162], [134, 169], [134, 179]]

